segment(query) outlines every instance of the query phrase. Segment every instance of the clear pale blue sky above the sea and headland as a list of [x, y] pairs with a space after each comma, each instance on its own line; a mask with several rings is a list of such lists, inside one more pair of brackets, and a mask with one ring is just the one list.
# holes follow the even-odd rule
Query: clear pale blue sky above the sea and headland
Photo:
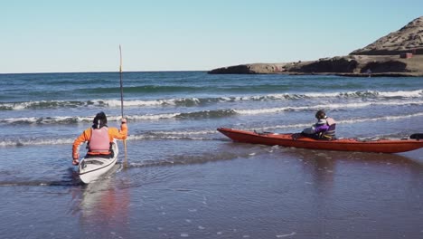
[[423, 15], [421, 0], [0, 2], [0, 73], [207, 71], [345, 55]]

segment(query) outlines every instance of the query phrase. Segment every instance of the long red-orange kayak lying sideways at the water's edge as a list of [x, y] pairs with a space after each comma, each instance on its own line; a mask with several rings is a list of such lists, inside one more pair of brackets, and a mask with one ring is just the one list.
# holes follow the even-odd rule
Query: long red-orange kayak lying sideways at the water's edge
[[[358, 139], [310, 139], [299, 134], [257, 133], [239, 129], [219, 128], [219, 132], [236, 142], [263, 145], [280, 145], [295, 148], [312, 148], [337, 151], [358, 151], [374, 153], [400, 153], [423, 148], [423, 139], [379, 139], [362, 141]], [[418, 134], [419, 135], [419, 134]], [[296, 136], [296, 137], [293, 137]], [[413, 138], [413, 137], [411, 137]]]

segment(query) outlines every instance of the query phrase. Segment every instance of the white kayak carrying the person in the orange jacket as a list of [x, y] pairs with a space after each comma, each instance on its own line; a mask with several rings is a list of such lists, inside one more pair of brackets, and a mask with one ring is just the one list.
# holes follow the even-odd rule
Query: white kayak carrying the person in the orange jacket
[[116, 140], [112, 144], [113, 158], [89, 157], [82, 158], [79, 165], [80, 180], [89, 184], [104, 175], [110, 168], [115, 166], [118, 160], [119, 148]]

